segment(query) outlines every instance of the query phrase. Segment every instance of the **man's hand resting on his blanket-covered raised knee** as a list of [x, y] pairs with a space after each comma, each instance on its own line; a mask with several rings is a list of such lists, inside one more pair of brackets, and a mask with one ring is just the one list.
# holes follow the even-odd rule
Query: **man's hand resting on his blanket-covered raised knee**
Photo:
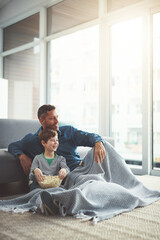
[[95, 162], [97, 164], [98, 164], [98, 158], [101, 163], [103, 162], [103, 159], [106, 156], [106, 150], [102, 142], [96, 142], [94, 146], [94, 156], [95, 156]]

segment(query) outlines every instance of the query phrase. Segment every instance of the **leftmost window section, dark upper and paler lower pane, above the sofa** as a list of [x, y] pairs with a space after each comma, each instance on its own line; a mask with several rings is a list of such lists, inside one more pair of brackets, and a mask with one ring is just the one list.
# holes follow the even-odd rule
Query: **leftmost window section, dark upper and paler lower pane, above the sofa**
[[[0, 111], [2, 118], [37, 118], [39, 106], [40, 54], [39, 45], [34, 42], [39, 38], [39, 13], [16, 22], [3, 29], [3, 50], [10, 50], [3, 58], [4, 107]], [[24, 44], [32, 43], [29, 48]], [[20, 47], [21, 51], [16, 50]], [[4, 100], [1, 100], [1, 103]]]

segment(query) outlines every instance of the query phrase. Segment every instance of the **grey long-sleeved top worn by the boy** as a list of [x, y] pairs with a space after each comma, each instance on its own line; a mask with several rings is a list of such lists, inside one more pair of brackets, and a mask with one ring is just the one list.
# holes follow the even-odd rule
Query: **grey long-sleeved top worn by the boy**
[[59, 155], [56, 155], [56, 158], [53, 159], [50, 165], [48, 164], [47, 160], [43, 157], [42, 154], [36, 155], [31, 165], [31, 170], [29, 174], [30, 180], [35, 180], [35, 175], [33, 173], [33, 170], [35, 168], [39, 168], [42, 171], [42, 173], [46, 176], [59, 175], [59, 170], [61, 168], [65, 168], [67, 171], [67, 174], [70, 172], [70, 169], [66, 164], [66, 159]]

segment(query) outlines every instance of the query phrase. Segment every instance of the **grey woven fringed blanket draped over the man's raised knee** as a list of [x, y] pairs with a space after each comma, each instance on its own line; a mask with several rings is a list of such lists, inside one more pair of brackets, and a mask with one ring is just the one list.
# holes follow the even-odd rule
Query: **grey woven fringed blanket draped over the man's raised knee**
[[[47, 189], [65, 209], [66, 215], [91, 219], [93, 223], [111, 218], [136, 207], [146, 206], [160, 198], [160, 191], [146, 188], [130, 171], [124, 159], [109, 144], [102, 164], [94, 161], [94, 149], [83, 159], [83, 166], [74, 169], [64, 186]], [[39, 211], [40, 192], [0, 201], [0, 210]]]

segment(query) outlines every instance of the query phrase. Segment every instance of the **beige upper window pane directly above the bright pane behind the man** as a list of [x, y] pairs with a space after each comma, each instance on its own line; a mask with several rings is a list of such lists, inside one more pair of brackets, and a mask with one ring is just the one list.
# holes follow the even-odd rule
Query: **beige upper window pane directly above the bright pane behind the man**
[[65, 0], [48, 8], [48, 34], [98, 17], [98, 0]]

